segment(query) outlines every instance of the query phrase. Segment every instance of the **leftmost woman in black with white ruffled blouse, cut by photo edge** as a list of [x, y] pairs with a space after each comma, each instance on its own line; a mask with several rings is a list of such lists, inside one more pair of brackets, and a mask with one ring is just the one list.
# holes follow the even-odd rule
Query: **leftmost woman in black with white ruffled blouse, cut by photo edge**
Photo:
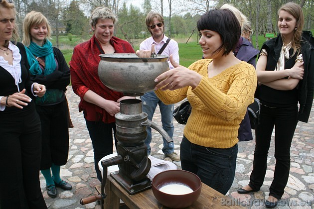
[[24, 46], [16, 40], [16, 10], [0, 2], [0, 208], [46, 209], [39, 183], [41, 128], [33, 99], [46, 88], [29, 78]]

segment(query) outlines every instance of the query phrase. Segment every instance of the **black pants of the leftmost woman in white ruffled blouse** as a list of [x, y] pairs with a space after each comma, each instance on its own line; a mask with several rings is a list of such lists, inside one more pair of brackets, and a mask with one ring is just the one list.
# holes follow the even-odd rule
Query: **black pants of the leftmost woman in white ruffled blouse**
[[39, 183], [41, 127], [31, 114], [0, 119], [0, 209], [46, 209]]

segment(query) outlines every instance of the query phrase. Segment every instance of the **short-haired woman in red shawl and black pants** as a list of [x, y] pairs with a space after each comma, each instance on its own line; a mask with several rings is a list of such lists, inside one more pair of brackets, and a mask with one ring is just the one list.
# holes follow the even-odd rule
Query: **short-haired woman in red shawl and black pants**
[[[79, 111], [84, 112], [86, 126], [94, 148], [97, 178], [102, 176], [98, 162], [113, 152], [113, 133], [116, 135], [115, 114], [120, 112], [120, 101], [128, 99], [100, 81], [100, 54], [135, 53], [131, 44], [113, 36], [116, 15], [106, 7], [96, 8], [90, 17], [93, 37], [74, 48], [70, 61], [71, 82], [75, 94], [81, 98]], [[112, 133], [113, 131], [113, 133]], [[115, 138], [117, 143], [117, 139]]]

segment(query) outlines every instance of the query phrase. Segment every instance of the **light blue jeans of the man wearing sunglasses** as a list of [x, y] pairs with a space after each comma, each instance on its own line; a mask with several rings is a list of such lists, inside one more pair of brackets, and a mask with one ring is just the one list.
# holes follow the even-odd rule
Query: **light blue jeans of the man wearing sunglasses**
[[[159, 105], [160, 113], [161, 113], [161, 123], [162, 128], [167, 132], [170, 138], [173, 137], [174, 126], [172, 123], [172, 112], [173, 112], [173, 104], [165, 105], [163, 104], [159, 98], [156, 96], [155, 92], [147, 92], [143, 96], [141, 96], [142, 100], [142, 108], [143, 112], [147, 113], [147, 117], [149, 120], [153, 119], [154, 112], [156, 110], [157, 104]], [[164, 137], [163, 140], [163, 148], [162, 152], [164, 154], [170, 154], [174, 152], [174, 144], [173, 142], [168, 143]], [[147, 127], [147, 138], [145, 140], [145, 144], [147, 145], [147, 154], [151, 154], [151, 144], [152, 142], [152, 128]]]

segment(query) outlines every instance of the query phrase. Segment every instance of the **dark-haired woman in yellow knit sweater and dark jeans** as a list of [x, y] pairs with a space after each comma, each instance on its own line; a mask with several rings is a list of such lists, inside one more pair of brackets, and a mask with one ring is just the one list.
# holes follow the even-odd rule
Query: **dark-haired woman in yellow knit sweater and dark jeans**
[[156, 94], [164, 104], [188, 99], [192, 112], [180, 146], [181, 167], [226, 194], [235, 175], [239, 124], [254, 101], [257, 78], [252, 65], [233, 55], [241, 28], [232, 11], [210, 10], [197, 28], [205, 59], [185, 68], [170, 56], [176, 68], [156, 78]]

